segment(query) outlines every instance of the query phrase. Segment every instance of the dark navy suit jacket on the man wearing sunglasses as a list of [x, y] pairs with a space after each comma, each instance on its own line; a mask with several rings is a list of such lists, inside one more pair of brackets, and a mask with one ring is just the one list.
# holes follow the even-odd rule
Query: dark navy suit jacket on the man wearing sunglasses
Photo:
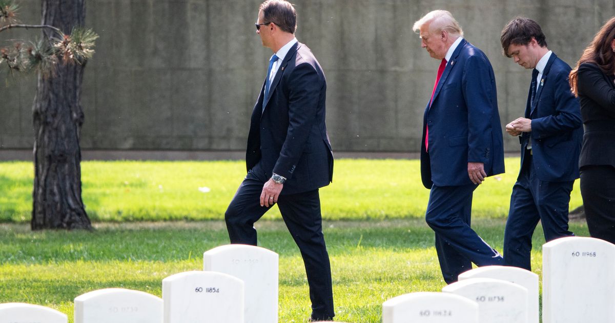
[[252, 112], [247, 170], [260, 162], [266, 177], [287, 178], [280, 194], [312, 191], [333, 178], [333, 153], [325, 125], [327, 82], [312, 51], [297, 42], [280, 64]]

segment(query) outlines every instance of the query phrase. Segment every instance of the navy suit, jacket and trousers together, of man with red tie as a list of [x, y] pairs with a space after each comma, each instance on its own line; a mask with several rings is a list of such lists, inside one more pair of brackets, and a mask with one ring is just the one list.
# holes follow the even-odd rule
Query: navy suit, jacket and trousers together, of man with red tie
[[[429, 152], [425, 147], [429, 125]], [[488, 176], [504, 172], [504, 148], [495, 76], [480, 49], [462, 39], [425, 109], [421, 178], [431, 189], [426, 221], [444, 280], [478, 266], [501, 264], [499, 253], [470, 228], [472, 193], [468, 162], [482, 162]]]

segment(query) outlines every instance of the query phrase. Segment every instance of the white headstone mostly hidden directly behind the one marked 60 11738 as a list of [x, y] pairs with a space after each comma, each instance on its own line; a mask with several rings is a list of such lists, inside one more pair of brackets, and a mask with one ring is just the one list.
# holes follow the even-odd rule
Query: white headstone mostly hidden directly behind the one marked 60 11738
[[459, 280], [470, 278], [493, 278], [515, 282], [528, 289], [529, 323], [539, 322], [538, 275], [523, 268], [510, 266], [483, 266], [459, 275]]

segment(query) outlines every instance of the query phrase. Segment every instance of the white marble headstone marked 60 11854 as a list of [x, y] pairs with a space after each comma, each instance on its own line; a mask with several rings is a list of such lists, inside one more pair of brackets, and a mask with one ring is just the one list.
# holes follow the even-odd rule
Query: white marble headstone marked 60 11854
[[162, 279], [164, 323], [244, 323], [244, 282], [213, 271]]

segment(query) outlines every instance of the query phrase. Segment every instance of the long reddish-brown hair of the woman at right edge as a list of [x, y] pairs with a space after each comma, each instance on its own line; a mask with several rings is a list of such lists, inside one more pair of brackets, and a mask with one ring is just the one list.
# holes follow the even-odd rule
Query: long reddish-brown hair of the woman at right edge
[[613, 52], [613, 47], [611, 47], [613, 39], [615, 39], [615, 17], [609, 19], [600, 28], [596, 36], [593, 37], [593, 41], [583, 50], [583, 54], [579, 58], [577, 65], [574, 66], [574, 70], [570, 71], [570, 89], [575, 96], [579, 96], [577, 72], [579, 71], [579, 65], [582, 63], [593, 63], [606, 74], [615, 73], [615, 52]]

